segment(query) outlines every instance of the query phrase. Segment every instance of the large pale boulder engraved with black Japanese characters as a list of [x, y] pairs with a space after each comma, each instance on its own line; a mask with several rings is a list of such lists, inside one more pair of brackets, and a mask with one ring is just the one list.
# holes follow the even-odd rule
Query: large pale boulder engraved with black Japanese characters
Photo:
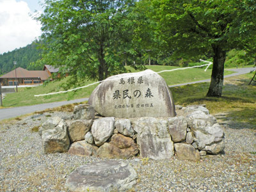
[[172, 93], [152, 70], [108, 77], [93, 90], [88, 104], [102, 116], [175, 116]]

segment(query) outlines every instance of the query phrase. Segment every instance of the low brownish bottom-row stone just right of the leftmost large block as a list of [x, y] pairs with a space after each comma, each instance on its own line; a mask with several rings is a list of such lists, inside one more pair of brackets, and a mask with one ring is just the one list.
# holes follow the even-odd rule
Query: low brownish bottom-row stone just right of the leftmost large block
[[68, 150], [68, 154], [76, 156], [95, 156], [97, 154], [98, 147], [86, 143], [86, 141], [77, 141], [72, 143]]

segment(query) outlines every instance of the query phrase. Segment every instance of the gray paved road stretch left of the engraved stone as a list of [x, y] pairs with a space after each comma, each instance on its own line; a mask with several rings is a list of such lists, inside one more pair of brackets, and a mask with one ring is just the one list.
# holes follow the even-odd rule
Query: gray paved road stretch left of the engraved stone
[[45, 104], [38, 104], [35, 106], [24, 106], [19, 108], [0, 109], [0, 120], [3, 120], [5, 118], [13, 118], [15, 116], [20, 116], [20, 115], [25, 115], [27, 113], [33, 113], [35, 111], [43, 111], [49, 108], [56, 108], [59, 106], [72, 104], [74, 102], [83, 102], [85, 100], [88, 100], [88, 98], [60, 101], [60, 102], [51, 102], [51, 103], [45, 103]]

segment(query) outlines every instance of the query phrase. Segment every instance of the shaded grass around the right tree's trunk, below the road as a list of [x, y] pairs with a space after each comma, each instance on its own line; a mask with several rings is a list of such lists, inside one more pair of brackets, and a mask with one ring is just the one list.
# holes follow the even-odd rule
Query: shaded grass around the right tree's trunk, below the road
[[211, 114], [225, 113], [225, 118], [243, 124], [249, 124], [256, 130], [256, 84], [248, 85], [253, 74], [229, 77], [225, 79], [222, 97], [205, 97], [209, 83], [189, 84], [170, 88], [175, 104], [187, 106], [206, 104]]

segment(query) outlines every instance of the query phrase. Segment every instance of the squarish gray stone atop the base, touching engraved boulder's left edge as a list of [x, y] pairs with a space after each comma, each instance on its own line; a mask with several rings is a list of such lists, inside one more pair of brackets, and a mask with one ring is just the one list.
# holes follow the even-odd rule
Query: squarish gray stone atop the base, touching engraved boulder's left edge
[[79, 104], [74, 108], [74, 119], [94, 119], [95, 110], [89, 104]]

